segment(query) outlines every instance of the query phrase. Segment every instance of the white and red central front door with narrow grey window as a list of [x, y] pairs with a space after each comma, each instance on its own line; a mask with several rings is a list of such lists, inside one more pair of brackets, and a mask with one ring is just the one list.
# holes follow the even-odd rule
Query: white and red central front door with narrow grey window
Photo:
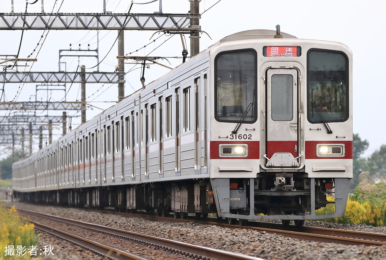
[[266, 78], [266, 167], [299, 167], [298, 71], [269, 69]]

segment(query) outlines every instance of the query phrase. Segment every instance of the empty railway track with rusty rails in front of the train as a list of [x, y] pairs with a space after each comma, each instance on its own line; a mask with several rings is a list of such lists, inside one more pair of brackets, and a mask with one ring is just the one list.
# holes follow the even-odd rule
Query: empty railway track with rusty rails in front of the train
[[[78, 220], [73, 220], [73, 219], [68, 219], [68, 218], [62, 218], [58, 216], [53, 216], [49, 214], [43, 214], [43, 213], [38, 213], [35, 211], [29, 211], [29, 210], [24, 210], [24, 209], [18, 209], [18, 211], [22, 214], [28, 214], [29, 216], [37, 217], [37, 218], [44, 218], [49, 221], [55, 221], [55, 222], [61, 222], [65, 223], [67, 225], [71, 226], [76, 226], [77, 228], [81, 228], [83, 230], [90, 230], [93, 232], [97, 233], [103, 233], [107, 234], [108, 236], [113, 236], [113, 237], [118, 237], [118, 238], [123, 238], [125, 240], [131, 240], [134, 241], [135, 243], [142, 243], [145, 246], [152, 246], [154, 250], [163, 250], [168, 253], [173, 254], [173, 258], [175, 258], [176, 253], [181, 255], [182, 257], [185, 256], [185, 258], [195, 258], [195, 259], [221, 259], [221, 260], [258, 260], [260, 258], [256, 257], [251, 257], [249, 255], [243, 255], [239, 253], [233, 253], [233, 252], [228, 252], [228, 251], [223, 251], [223, 250], [218, 250], [214, 248], [209, 248], [209, 247], [204, 247], [204, 246], [197, 246], [181, 241], [176, 241], [176, 240], [170, 240], [166, 238], [160, 238], [156, 236], [151, 236], [151, 235], [146, 235], [142, 233], [137, 233], [137, 232], [132, 232], [132, 231], [127, 231], [127, 230], [120, 230], [118, 228], [111, 228], [107, 226], [102, 226], [102, 225], [97, 225], [97, 224], [92, 224], [92, 223], [86, 223], [83, 221], [78, 221]], [[50, 231], [50, 229], [55, 230], [55, 232], [61, 232], [58, 228], [53, 228], [50, 226], [46, 225], [41, 225], [40, 223], [36, 221], [31, 221], [35, 225], [39, 226], [38, 228], [41, 230], [44, 230], [47, 232]], [[110, 254], [110, 251], [112, 249], [107, 246], [103, 245], [101, 243], [94, 243], [93, 241], [87, 240], [86, 242], [83, 242], [84, 240], [80, 236], [76, 236], [76, 238], [70, 238], [69, 235], [72, 236], [72, 234], [69, 234], [66, 232], [66, 240], [71, 240], [74, 241], [74, 243], [78, 243], [81, 246], [85, 246], [86, 248], [89, 248], [92, 251], [98, 252], [103, 255], [108, 255], [109, 257], [113, 259], [146, 259], [146, 258], [134, 258], [138, 257], [135, 255], [124, 255], [120, 250], [114, 255], [112, 253]], [[57, 235], [57, 234], [55, 234]], [[59, 236], [59, 235], [57, 235]], [[62, 237], [62, 235], [60, 235]], [[102, 246], [102, 247], [101, 247]], [[98, 248], [96, 248], [98, 247]], [[116, 248], [115, 248], [116, 249]], [[125, 251], [124, 251], [125, 252]], [[127, 253], [127, 252], [126, 252]], [[110, 254], [110, 255], [109, 255]], [[131, 258], [130, 258], [131, 257]], [[165, 258], [166, 259], [166, 258]], [[181, 258], [183, 259], [183, 258]]]

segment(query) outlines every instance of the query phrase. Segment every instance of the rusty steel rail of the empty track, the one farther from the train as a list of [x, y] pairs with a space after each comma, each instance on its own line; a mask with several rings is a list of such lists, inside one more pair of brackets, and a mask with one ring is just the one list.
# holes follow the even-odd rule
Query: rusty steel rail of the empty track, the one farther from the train
[[38, 230], [42, 230], [44, 232], [58, 236], [62, 239], [71, 241], [72, 243], [88, 248], [93, 252], [97, 252], [101, 255], [107, 256], [112, 259], [117, 259], [117, 260], [126, 260], [126, 259], [146, 260], [147, 259], [147, 258], [139, 257], [132, 253], [126, 252], [124, 250], [120, 250], [118, 248], [114, 248], [112, 246], [108, 246], [108, 245], [99, 243], [97, 241], [90, 240], [88, 238], [84, 238], [78, 235], [68, 233], [66, 231], [60, 230], [58, 228], [54, 228], [52, 226], [47, 226], [32, 220], [29, 220], [29, 221], [34, 223], [35, 228], [37, 228]]

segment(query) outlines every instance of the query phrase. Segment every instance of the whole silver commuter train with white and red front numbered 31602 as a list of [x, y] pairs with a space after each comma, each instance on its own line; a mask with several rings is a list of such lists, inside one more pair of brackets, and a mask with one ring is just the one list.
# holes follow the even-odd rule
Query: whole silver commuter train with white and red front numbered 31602
[[240, 225], [342, 217], [350, 178], [352, 52], [279, 28], [225, 37], [13, 165], [24, 200]]

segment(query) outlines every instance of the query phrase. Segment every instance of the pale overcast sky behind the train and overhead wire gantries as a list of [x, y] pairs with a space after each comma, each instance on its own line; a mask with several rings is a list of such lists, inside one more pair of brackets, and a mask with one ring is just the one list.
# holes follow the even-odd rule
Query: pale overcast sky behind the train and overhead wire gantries
[[[105, 0], [106, 10], [113, 13], [128, 12], [131, 1]], [[29, 2], [34, 2], [29, 0]], [[135, 0], [131, 13], [151, 14], [159, 12], [159, 2], [151, 0]], [[25, 0], [14, 0], [14, 12], [24, 12]], [[10, 12], [11, 0], [1, 0], [0, 13]], [[29, 4], [27, 12], [40, 12], [41, 0]], [[61, 5], [61, 7], [60, 7]], [[60, 7], [60, 8], [59, 8]], [[363, 157], [370, 156], [383, 144], [386, 144], [386, 113], [385, 113], [385, 83], [383, 61], [386, 61], [386, 52], [382, 51], [385, 25], [384, 1], [358, 1], [358, 0], [293, 0], [293, 1], [257, 1], [257, 0], [201, 0], [200, 25], [207, 32], [200, 38], [200, 51], [211, 46], [218, 40], [235, 32], [252, 29], [276, 30], [280, 25], [281, 31], [301, 39], [318, 39], [342, 42], [353, 52], [353, 107], [354, 107], [354, 133], [358, 133], [362, 140], [369, 142], [369, 148]], [[186, 14], [190, 9], [188, 0], [162, 0], [164, 14]], [[77, 12], [101, 13], [103, 0], [44, 0], [45, 12]], [[117, 66], [117, 43], [114, 44], [118, 32], [116, 30], [99, 31], [99, 56], [100, 71], [112, 72]], [[179, 35], [168, 36], [156, 33], [151, 40], [153, 31], [125, 31], [125, 54], [135, 56], [181, 56], [182, 44]], [[21, 31], [0, 30], [0, 55], [11, 55], [18, 52]], [[43, 37], [41, 37], [43, 35]], [[161, 36], [161, 37], [159, 37]], [[155, 42], [153, 39], [158, 38]], [[45, 39], [43, 44], [37, 43]], [[187, 46], [190, 46], [186, 36]], [[81, 49], [97, 48], [97, 32], [95, 30], [27, 30], [24, 32], [20, 48], [20, 58], [31, 57], [38, 59], [30, 67], [18, 67], [19, 71], [58, 71], [59, 49], [73, 49], [81, 44]], [[114, 45], [113, 45], [114, 44]], [[146, 47], [144, 47], [146, 46]], [[111, 48], [111, 51], [109, 52]], [[34, 51], [35, 49], [35, 51]], [[137, 51], [138, 50], [138, 51]], [[188, 48], [188, 51], [190, 49]], [[131, 52], [131, 54], [130, 54]], [[169, 64], [168, 61], [171, 63]], [[168, 58], [159, 60], [169, 67], [181, 64], [182, 59]], [[86, 72], [94, 71], [97, 60], [91, 57], [63, 57], [67, 71], [75, 71], [78, 65], [85, 65]], [[24, 64], [21, 62], [20, 64]], [[129, 95], [141, 88], [141, 69], [134, 64], [125, 64], [125, 95]], [[146, 83], [161, 77], [169, 71], [158, 65], [151, 65], [145, 71]], [[2, 101], [12, 101], [19, 95], [17, 101], [42, 100], [47, 101], [47, 93], [36, 92], [37, 84], [5, 84]], [[3, 88], [3, 86], [1, 87]], [[21, 88], [21, 91], [20, 91]], [[19, 89], [20, 94], [17, 94]], [[80, 100], [80, 84], [66, 85], [69, 95], [67, 101]], [[102, 112], [103, 109], [115, 104], [107, 101], [117, 101], [117, 84], [87, 84], [86, 101], [92, 108], [86, 111], [87, 120]], [[51, 101], [64, 101], [64, 91], [53, 91]], [[9, 113], [9, 112], [7, 112]], [[11, 111], [11, 113], [20, 113]], [[37, 115], [61, 115], [62, 111], [36, 111]], [[68, 115], [78, 116], [72, 118], [73, 128], [80, 123], [80, 112], [67, 111]], [[0, 115], [5, 115], [0, 111]], [[61, 135], [61, 125], [54, 126], [54, 139]], [[36, 139], [34, 142], [38, 142]], [[27, 146], [27, 145], [26, 145]], [[36, 151], [36, 145], [34, 151]], [[3, 149], [3, 154], [7, 150]], [[0, 154], [0, 157], [2, 154]]]

